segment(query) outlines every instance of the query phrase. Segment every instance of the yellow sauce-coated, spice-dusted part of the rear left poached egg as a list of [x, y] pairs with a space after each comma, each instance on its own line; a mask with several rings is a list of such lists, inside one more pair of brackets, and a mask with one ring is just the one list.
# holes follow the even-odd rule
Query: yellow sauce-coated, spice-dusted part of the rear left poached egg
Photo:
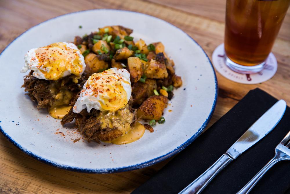
[[79, 57], [79, 50], [67, 47], [63, 42], [53, 43], [35, 50], [39, 63], [37, 68], [46, 79], [57, 80], [65, 71], [80, 76], [83, 66]]

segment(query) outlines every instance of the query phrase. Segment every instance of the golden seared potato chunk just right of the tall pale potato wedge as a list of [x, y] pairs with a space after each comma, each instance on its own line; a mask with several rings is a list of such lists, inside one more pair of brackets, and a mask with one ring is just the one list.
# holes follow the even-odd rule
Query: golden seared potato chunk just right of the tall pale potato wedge
[[168, 77], [165, 64], [151, 59], [146, 65], [148, 66], [146, 67], [144, 74], [148, 78], [163, 79]]

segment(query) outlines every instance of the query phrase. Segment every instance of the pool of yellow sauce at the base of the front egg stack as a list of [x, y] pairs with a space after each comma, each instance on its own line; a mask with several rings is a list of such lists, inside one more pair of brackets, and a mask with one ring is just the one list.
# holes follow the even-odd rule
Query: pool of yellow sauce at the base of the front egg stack
[[141, 123], [137, 122], [134, 125], [134, 127], [131, 128], [130, 131], [128, 131], [128, 133], [125, 134], [124, 136], [118, 137], [111, 141], [105, 141], [105, 142], [118, 144], [118, 145], [132, 143], [142, 138], [142, 136], [144, 135], [144, 132], [145, 132], [145, 127]]

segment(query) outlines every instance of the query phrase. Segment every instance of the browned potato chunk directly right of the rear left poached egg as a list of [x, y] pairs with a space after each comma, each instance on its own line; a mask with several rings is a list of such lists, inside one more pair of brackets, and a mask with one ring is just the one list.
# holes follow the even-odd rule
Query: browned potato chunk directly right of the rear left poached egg
[[86, 69], [85, 72], [88, 74], [98, 73], [108, 68], [108, 63], [103, 60], [99, 60], [98, 56], [93, 53], [89, 53], [85, 57]]

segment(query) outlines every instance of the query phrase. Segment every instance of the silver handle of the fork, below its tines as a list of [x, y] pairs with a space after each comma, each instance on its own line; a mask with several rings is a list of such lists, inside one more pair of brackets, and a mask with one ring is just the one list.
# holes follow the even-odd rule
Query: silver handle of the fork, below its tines
[[251, 181], [248, 182], [237, 194], [246, 194], [249, 193], [252, 188], [257, 184], [257, 182], [262, 178], [262, 176], [277, 162], [284, 160], [284, 158], [280, 158], [279, 156], [275, 155], [275, 157], [270, 160], [264, 168], [258, 172], [257, 175], [255, 175]]

